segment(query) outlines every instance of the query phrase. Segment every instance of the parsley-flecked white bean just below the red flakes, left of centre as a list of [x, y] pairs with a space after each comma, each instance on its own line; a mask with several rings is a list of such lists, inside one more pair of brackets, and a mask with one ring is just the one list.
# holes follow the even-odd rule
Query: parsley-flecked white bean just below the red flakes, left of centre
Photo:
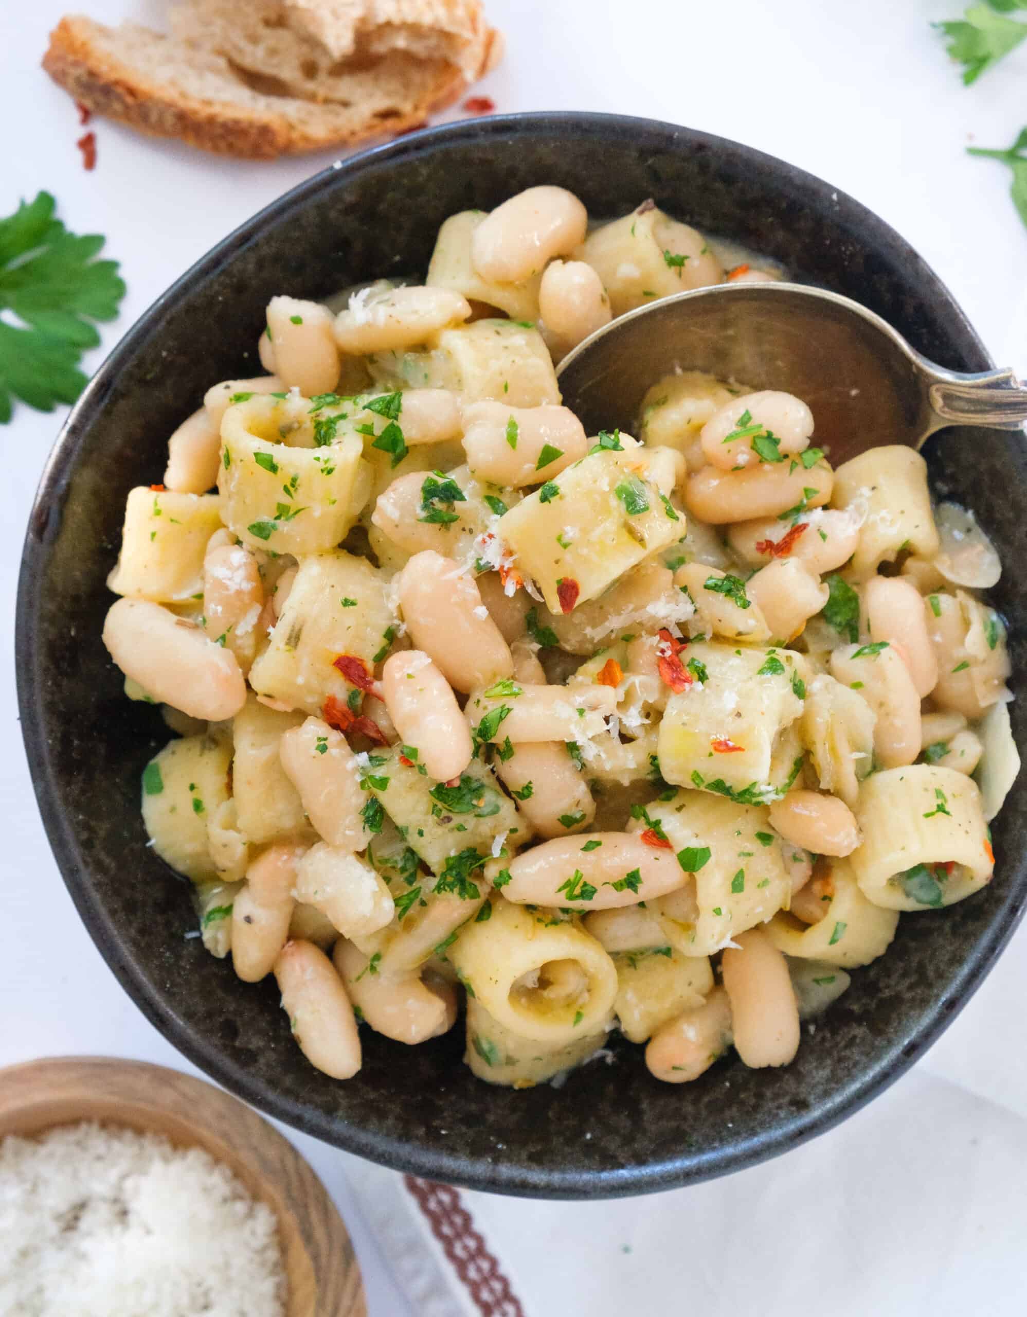
[[308, 718], [282, 734], [278, 757], [286, 777], [299, 792], [303, 813], [317, 832], [337, 849], [363, 848], [361, 790], [357, 756], [342, 732], [320, 718]]

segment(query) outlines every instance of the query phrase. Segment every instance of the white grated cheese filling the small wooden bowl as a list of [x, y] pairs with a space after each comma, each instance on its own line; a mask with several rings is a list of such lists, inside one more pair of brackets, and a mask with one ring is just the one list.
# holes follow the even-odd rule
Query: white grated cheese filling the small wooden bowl
[[124, 1126], [0, 1141], [0, 1314], [283, 1317], [274, 1212], [201, 1148]]

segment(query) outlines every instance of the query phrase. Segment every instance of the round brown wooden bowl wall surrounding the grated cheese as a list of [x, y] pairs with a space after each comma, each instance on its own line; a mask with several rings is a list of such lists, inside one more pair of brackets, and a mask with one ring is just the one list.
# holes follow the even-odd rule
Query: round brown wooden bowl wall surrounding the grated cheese
[[65, 1056], [0, 1071], [0, 1139], [78, 1121], [204, 1148], [278, 1217], [287, 1317], [366, 1317], [342, 1218], [307, 1162], [257, 1112], [203, 1080], [144, 1062]]

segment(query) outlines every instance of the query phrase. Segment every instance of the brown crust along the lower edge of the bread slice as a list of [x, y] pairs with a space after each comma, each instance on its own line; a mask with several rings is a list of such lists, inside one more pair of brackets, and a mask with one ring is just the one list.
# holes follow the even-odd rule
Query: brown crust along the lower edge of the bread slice
[[[232, 70], [221, 62], [224, 99], [195, 96], [157, 79], [111, 50], [111, 29], [84, 17], [62, 18], [50, 33], [42, 66], [79, 104], [154, 137], [171, 137], [219, 155], [274, 159], [276, 155], [352, 146], [382, 136], [398, 136], [424, 125], [427, 116], [452, 105], [469, 86], [454, 65], [440, 63], [438, 76], [408, 109], [344, 124], [330, 105], [312, 113], [308, 103], [291, 97], [257, 96], [238, 83], [250, 104], [230, 99]], [[487, 46], [481, 67], [487, 59]], [[208, 57], [209, 58], [209, 57]], [[292, 113], [290, 113], [292, 109]], [[300, 121], [296, 115], [302, 113]]]

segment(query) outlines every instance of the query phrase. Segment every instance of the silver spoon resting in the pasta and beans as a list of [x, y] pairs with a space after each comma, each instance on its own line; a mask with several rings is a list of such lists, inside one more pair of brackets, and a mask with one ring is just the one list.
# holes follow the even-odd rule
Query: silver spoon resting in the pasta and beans
[[578, 344], [557, 375], [586, 433], [633, 433], [646, 390], [675, 370], [802, 398], [835, 466], [878, 444], [920, 448], [945, 425], [1027, 420], [1011, 370], [945, 370], [866, 307], [798, 283], [722, 283], [637, 307]]

